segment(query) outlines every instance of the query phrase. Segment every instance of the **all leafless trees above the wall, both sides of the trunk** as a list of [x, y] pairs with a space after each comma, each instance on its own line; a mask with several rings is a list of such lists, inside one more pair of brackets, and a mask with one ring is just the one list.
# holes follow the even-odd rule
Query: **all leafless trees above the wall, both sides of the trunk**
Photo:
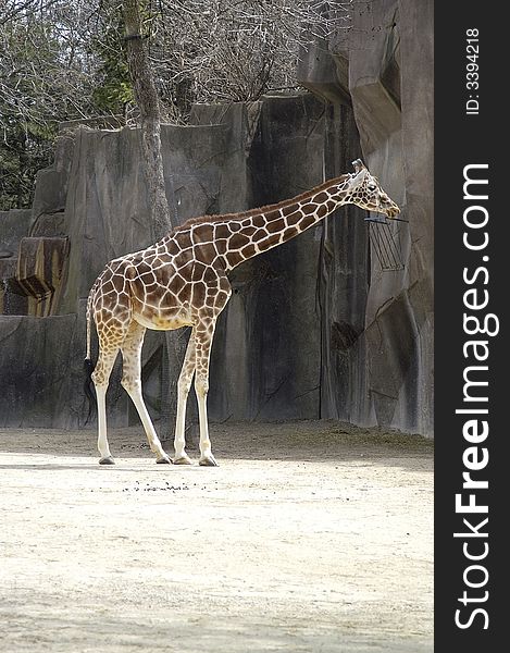
[[[185, 122], [194, 102], [254, 100], [296, 88], [299, 47], [346, 29], [353, 1], [138, 0], [139, 45], [160, 118]], [[13, 180], [1, 182], [2, 208], [29, 201], [33, 174], [48, 159], [59, 122], [120, 108], [132, 122], [142, 120], [126, 79], [105, 72], [105, 58], [125, 61], [136, 49], [136, 39], [125, 40], [124, 4], [0, 2], [0, 168], [2, 180]], [[104, 101], [110, 88], [121, 101]]]

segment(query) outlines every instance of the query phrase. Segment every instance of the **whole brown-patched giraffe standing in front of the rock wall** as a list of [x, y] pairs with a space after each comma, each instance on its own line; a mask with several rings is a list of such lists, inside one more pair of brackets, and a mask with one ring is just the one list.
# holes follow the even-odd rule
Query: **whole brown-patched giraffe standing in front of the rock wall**
[[[186, 403], [195, 377], [200, 427], [200, 458], [215, 466], [207, 417], [209, 360], [217, 317], [231, 297], [228, 273], [258, 254], [277, 247], [318, 224], [335, 209], [354, 204], [395, 218], [399, 207], [360, 159], [353, 173], [324, 182], [279, 204], [192, 218], [154, 245], [110, 261], [94, 283], [87, 301], [88, 382], [98, 408], [100, 465], [113, 465], [107, 438], [105, 395], [119, 352], [122, 385], [133, 399], [157, 463], [190, 465], [185, 451]], [[90, 359], [90, 324], [99, 340], [96, 367]], [[163, 451], [141, 394], [141, 347], [147, 329], [191, 326], [178, 378], [173, 460]]]

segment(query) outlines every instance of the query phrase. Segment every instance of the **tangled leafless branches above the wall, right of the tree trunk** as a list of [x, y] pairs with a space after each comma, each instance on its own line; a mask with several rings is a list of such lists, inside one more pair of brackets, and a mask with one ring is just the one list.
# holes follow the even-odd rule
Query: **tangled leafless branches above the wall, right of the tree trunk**
[[257, 100], [296, 88], [299, 48], [349, 26], [350, 1], [159, 0], [150, 57], [173, 120], [194, 102]]

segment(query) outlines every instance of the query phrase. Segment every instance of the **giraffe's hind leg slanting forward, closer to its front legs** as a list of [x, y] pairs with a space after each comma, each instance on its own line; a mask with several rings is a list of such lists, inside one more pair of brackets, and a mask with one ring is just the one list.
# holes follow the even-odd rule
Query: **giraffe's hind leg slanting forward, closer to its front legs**
[[172, 460], [161, 446], [141, 394], [141, 346], [144, 345], [145, 333], [145, 326], [133, 321], [121, 345], [123, 359], [122, 386], [135, 404], [135, 408], [144, 424], [150, 449], [157, 456], [156, 461], [171, 464]]

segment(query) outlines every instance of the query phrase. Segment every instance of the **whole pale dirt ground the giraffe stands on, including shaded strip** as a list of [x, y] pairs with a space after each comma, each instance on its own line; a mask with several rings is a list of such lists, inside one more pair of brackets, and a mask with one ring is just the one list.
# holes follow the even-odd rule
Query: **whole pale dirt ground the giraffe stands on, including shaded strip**
[[1, 651], [433, 651], [431, 441], [212, 424], [202, 468], [95, 440], [0, 430]]

